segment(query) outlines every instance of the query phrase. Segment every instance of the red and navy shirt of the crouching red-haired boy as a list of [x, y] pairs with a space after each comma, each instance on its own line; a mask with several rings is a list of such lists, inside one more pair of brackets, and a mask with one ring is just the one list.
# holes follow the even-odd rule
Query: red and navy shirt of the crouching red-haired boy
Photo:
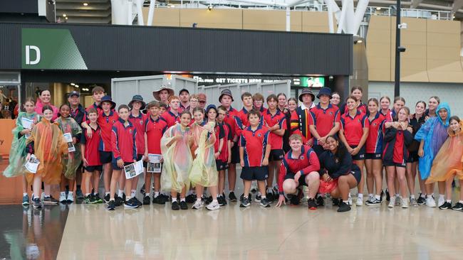
[[302, 146], [301, 155], [296, 159], [293, 158], [292, 150], [289, 150], [283, 157], [278, 176], [278, 191], [280, 194], [283, 194], [283, 180], [286, 173], [296, 174], [301, 170], [303, 175], [320, 170], [320, 162], [318, 161], [317, 154], [310, 146]]

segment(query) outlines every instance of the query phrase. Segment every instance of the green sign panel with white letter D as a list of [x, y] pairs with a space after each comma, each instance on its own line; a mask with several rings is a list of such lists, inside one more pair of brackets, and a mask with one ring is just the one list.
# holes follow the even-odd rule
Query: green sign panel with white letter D
[[21, 39], [23, 69], [88, 69], [68, 29], [23, 28]]

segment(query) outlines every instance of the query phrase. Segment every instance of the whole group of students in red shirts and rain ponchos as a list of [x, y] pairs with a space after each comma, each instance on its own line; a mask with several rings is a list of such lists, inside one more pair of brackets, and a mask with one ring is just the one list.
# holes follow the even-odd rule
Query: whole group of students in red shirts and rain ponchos
[[[244, 183], [240, 207], [251, 205], [250, 192], [256, 181], [254, 201], [261, 207], [271, 202], [276, 207], [286, 202], [298, 205], [307, 186], [309, 209], [324, 205], [323, 195], [330, 194], [338, 212], [345, 212], [353, 204], [350, 190], [355, 187], [355, 204], [364, 204], [365, 167], [368, 206], [381, 205], [386, 194], [388, 207], [436, 207], [433, 190], [437, 182], [439, 208], [463, 209], [462, 194], [453, 206], [451, 200], [454, 176], [463, 184], [459, 139], [463, 122], [451, 117], [448, 104], [441, 104], [438, 97], [430, 98], [428, 109], [426, 102], [417, 102], [415, 114], [410, 114], [402, 97], [394, 99], [392, 109], [389, 97], [371, 98], [364, 104], [361, 87], [353, 87], [342, 105], [340, 95], [328, 87], [318, 93], [318, 104], [311, 90], [304, 89], [298, 100], [287, 99], [283, 93], [270, 94], [267, 108], [261, 94], [244, 92], [243, 108], [238, 111], [231, 107], [230, 90], [222, 90], [219, 107], [206, 107], [205, 94], [181, 90], [175, 96], [169, 87], [161, 87], [153, 92], [157, 101], [146, 104], [135, 95], [116, 112], [115, 102], [102, 87], [93, 88], [92, 93], [94, 104], [87, 109], [78, 104], [78, 92], [71, 92], [69, 103], [59, 109], [49, 104], [48, 90], [37, 102], [26, 99], [25, 112], [19, 114], [13, 131], [10, 165], [4, 171], [9, 177], [24, 175], [24, 204], [29, 203], [30, 184], [33, 207], [73, 202], [76, 175], [83, 166], [85, 202], [105, 202], [108, 210], [169, 200], [172, 210], [187, 210], [187, 203], [193, 209], [207, 204], [208, 210], [218, 210], [227, 205], [226, 175], [229, 201], [238, 200], [234, 188], [239, 163]], [[33, 127], [24, 127], [23, 117], [33, 121]], [[66, 134], [72, 141], [65, 139]], [[24, 168], [32, 155], [39, 162], [35, 173]], [[147, 167], [152, 156], [159, 161]], [[136, 197], [139, 175], [126, 178], [124, 170], [140, 161], [145, 175], [142, 202]], [[417, 169], [421, 192], [416, 198]], [[101, 173], [103, 199], [98, 194]], [[61, 189], [59, 200], [50, 193], [56, 184]]]

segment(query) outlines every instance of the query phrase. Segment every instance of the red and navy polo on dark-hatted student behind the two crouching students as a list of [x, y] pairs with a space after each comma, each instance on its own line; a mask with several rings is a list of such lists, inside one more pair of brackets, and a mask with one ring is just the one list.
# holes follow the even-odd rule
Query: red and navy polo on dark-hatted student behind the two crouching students
[[[328, 104], [328, 108], [323, 109], [318, 103], [316, 107], [311, 109], [312, 121], [311, 125], [316, 126], [319, 136], [326, 136], [333, 129], [335, 123], [340, 123], [340, 112], [338, 107]], [[317, 143], [315, 140], [314, 143]]]

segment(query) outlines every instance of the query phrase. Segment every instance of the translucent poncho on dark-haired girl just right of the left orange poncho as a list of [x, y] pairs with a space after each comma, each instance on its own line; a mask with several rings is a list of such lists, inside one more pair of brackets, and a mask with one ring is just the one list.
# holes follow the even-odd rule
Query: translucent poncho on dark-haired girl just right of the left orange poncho
[[[82, 134], [82, 129], [80, 129], [80, 126], [72, 117], [58, 117], [56, 123], [58, 123], [63, 134], [70, 133], [71, 136]], [[80, 166], [80, 163], [82, 163], [80, 144], [75, 143], [74, 148], [76, 148], [76, 151], [68, 153], [67, 158], [63, 158], [63, 174], [68, 179], [76, 178], [76, 170]]]

